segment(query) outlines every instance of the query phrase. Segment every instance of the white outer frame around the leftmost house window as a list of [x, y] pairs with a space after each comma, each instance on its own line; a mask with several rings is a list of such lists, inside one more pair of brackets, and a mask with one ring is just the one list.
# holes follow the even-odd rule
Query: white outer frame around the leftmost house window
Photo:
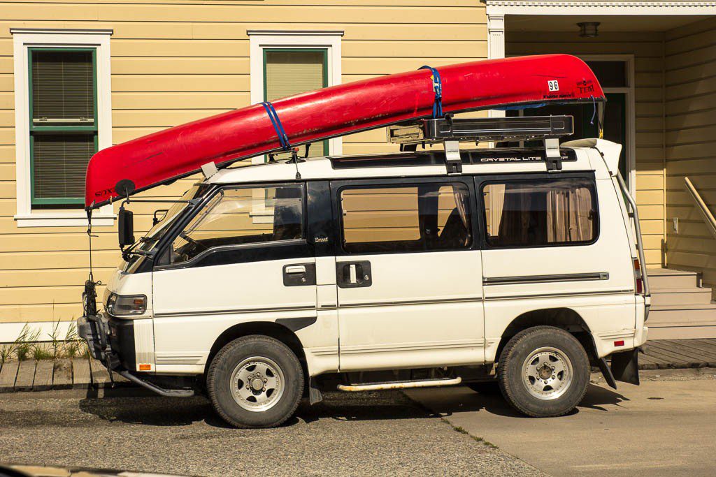
[[[30, 198], [30, 132], [28, 49], [31, 47], [90, 47], [97, 50], [97, 145], [112, 145], [112, 87], [110, 35], [112, 30], [10, 29], [14, 45], [15, 79], [15, 173], [18, 227], [87, 227], [87, 212], [78, 210], [32, 210]], [[93, 226], [114, 225], [112, 205], [92, 214]]]

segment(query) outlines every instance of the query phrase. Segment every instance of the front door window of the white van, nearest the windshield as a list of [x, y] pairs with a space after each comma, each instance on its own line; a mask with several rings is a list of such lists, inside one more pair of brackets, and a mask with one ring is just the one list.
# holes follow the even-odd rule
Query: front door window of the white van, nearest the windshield
[[304, 238], [303, 187], [242, 187], [219, 191], [172, 244], [171, 262], [204, 250]]

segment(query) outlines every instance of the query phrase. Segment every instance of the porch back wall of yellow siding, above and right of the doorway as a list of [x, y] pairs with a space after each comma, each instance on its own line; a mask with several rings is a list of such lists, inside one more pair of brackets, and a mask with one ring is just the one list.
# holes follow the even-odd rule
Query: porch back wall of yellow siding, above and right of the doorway
[[664, 240], [664, 107], [663, 34], [599, 32], [596, 39], [580, 39], [573, 32], [507, 29], [508, 55], [569, 53], [576, 55], [634, 55], [636, 102], [637, 204], [647, 265], [662, 265]]

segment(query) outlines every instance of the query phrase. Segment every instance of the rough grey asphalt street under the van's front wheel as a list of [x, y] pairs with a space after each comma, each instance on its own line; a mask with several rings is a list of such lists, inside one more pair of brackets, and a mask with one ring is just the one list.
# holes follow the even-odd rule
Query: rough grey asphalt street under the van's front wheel
[[2, 463], [198, 476], [543, 475], [399, 391], [330, 393], [265, 430], [228, 428], [203, 398], [12, 396], [0, 395]]

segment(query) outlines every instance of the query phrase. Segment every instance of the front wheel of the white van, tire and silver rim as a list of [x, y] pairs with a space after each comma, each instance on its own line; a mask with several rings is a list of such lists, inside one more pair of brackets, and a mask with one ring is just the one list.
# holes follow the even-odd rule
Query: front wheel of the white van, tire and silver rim
[[216, 353], [206, 389], [218, 415], [231, 426], [276, 427], [296, 412], [304, 391], [304, 372], [284, 343], [249, 335]]

